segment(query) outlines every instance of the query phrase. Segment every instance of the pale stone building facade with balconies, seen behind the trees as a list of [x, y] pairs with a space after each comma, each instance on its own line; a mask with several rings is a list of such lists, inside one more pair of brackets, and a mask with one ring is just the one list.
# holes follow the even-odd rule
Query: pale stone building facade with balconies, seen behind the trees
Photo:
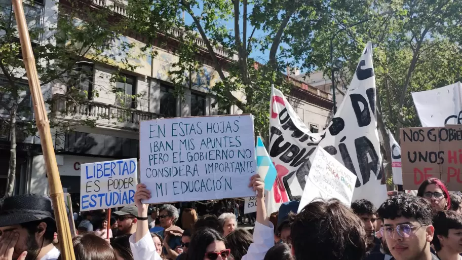
[[[0, 3], [5, 1], [11, 3], [11, 0], [0, 0]], [[40, 17], [44, 20], [47, 10], [55, 8], [56, 2], [39, 1], [43, 1]], [[95, 8], [113, 4], [115, 13], [126, 14], [123, 4], [108, 3], [109, 1], [91, 0], [91, 4]], [[43, 22], [41, 25], [51, 26]], [[171, 32], [173, 35], [180, 35], [180, 33], [179, 30]], [[119, 44], [133, 44], [134, 52], [141, 54], [135, 55], [136, 58], [130, 60], [137, 65], [136, 69], [122, 72], [124, 80], [115, 82], [109, 80], [115, 72], [114, 66], [117, 66], [120, 61], [118, 55], [123, 56], [124, 53], [114, 53], [113, 60], [109, 63], [93, 62], [90, 57], [79, 63], [82, 71], [81, 89], [88, 93], [97, 92], [98, 95], [89, 95], [88, 100], [75, 103], [65, 95], [65, 86], [54, 83], [43, 89], [45, 99], [53, 101], [50, 109], [55, 112], [56, 119], [74, 121], [92, 119], [96, 122], [95, 127], [76, 125], [70, 132], [53, 134], [61, 182], [64, 190], [71, 194], [78, 196], [80, 193], [81, 164], [139, 157], [138, 127], [142, 120], [240, 113], [237, 107], [220, 110], [218, 106], [212, 105], [215, 97], [210, 93], [210, 89], [220, 79], [208, 58], [202, 39], [198, 38], [197, 43], [204, 47], [204, 52], [198, 54], [203, 67], [200, 72], [191, 74], [191, 86], [185, 84], [183, 97], [176, 97], [169, 75], [172, 64], [178, 60], [178, 56], [174, 54], [175, 46], [153, 47], [156, 48], [158, 55], [151, 56], [150, 52], [142, 53], [144, 43], [135, 38], [123, 36], [118, 39]], [[237, 59], [236, 54], [228, 55], [221, 47], [215, 47], [215, 52], [223, 61]], [[289, 99], [293, 102], [295, 110], [307, 125], [313, 125], [313, 130], [315, 128], [322, 130], [330, 122], [331, 96], [306, 84], [304, 86], [302, 82], [293, 81], [295, 88]], [[137, 95], [137, 98], [121, 100], [110, 91], [113, 88], [121, 90], [127, 96]], [[237, 93], [236, 96], [242, 99], [243, 95]], [[69, 114], [72, 118], [68, 118]], [[19, 174], [15, 193], [47, 194], [48, 180], [40, 139], [26, 137], [21, 142], [26, 146], [27, 152], [18, 164]], [[7, 146], [5, 143], [5, 147]], [[8, 160], [2, 160], [0, 167], [7, 169]], [[0, 174], [0, 180], [2, 176], [6, 177], [6, 172]], [[0, 187], [3, 187], [1, 181]]]

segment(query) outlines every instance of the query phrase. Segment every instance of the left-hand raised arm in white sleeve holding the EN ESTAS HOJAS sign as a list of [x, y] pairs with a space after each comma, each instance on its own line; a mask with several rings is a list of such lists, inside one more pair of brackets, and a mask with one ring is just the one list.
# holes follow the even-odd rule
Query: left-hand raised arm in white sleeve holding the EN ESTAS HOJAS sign
[[[151, 198], [151, 192], [146, 189], [146, 185], [139, 183], [136, 185], [135, 192], [135, 206], [138, 208], [138, 216], [147, 218], [147, 206], [142, 200]], [[149, 226], [146, 220], [139, 220], [136, 222], [135, 242], [140, 241], [146, 234], [149, 233]]]

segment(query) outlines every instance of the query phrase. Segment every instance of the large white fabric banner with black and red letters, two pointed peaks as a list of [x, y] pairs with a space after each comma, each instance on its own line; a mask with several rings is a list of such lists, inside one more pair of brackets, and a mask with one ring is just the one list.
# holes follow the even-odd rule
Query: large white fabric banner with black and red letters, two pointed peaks
[[[273, 88], [270, 157], [278, 172], [273, 189], [274, 207], [300, 199], [311, 168], [310, 157], [318, 144], [358, 176], [353, 201], [368, 199], [378, 207], [387, 198], [386, 185], [380, 184], [383, 170], [375, 118], [375, 76], [370, 42], [363, 51], [350, 89], [329, 127], [322, 133], [311, 133], [282, 92]], [[270, 199], [267, 204], [271, 203]]]

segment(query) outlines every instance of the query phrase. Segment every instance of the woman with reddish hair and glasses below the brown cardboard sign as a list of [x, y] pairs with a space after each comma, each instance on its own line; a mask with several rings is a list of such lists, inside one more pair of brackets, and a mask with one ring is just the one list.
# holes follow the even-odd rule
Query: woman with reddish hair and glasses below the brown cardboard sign
[[446, 185], [438, 178], [424, 180], [417, 190], [417, 196], [426, 199], [432, 205], [433, 213], [451, 209], [451, 200]]

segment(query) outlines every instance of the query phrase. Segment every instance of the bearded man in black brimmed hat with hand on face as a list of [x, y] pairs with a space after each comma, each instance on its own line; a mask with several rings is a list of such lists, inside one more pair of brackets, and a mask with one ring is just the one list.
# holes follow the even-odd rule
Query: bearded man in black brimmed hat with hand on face
[[14, 244], [9, 259], [23, 258], [25, 253], [26, 260], [57, 259], [60, 253], [52, 243], [55, 232], [56, 222], [49, 198], [27, 194], [4, 200], [0, 209], [0, 248], [7, 243]]

